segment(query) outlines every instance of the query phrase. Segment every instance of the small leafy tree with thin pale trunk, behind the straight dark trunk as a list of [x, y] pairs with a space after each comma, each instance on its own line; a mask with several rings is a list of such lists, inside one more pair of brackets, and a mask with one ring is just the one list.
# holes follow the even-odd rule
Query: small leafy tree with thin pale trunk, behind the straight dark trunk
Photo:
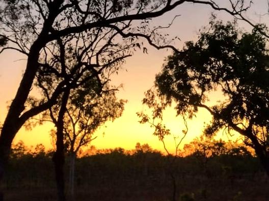
[[[72, 199], [74, 199], [74, 167], [78, 151], [97, 137], [93, 135], [102, 124], [120, 117], [124, 109], [125, 101], [122, 99], [117, 101], [115, 94], [117, 89], [110, 89], [107, 84], [101, 92], [93, 90], [95, 88], [98, 86], [92, 86], [91, 90], [88, 86], [72, 90], [64, 114], [63, 134], [65, 148], [70, 156], [69, 188]], [[61, 107], [62, 105], [55, 105], [49, 109], [56, 127], [55, 120]], [[55, 131], [52, 131], [52, 138], [56, 138]]]

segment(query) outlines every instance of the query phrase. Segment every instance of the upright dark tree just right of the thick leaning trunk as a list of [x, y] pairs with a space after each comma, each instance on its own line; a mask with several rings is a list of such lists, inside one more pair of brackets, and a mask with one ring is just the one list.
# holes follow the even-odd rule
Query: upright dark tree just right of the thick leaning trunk
[[[115, 118], [118, 114], [117, 109], [119, 107], [116, 107], [116, 97], [115, 93], [113, 93], [116, 89], [110, 89], [107, 83], [111, 74], [120, 68], [126, 57], [130, 56], [131, 48], [135, 45], [133, 45], [132, 41], [125, 41], [124, 44], [113, 42], [116, 37], [117, 33], [115, 34], [111, 29], [97, 29], [96, 32], [81, 33], [77, 36], [58, 39], [53, 46], [46, 47], [46, 52], [42, 57], [42, 64], [40, 64], [34, 81], [34, 86], [40, 90], [42, 96], [40, 98], [29, 96], [26, 101], [25, 106], [33, 108], [41, 103], [49, 102], [57, 90], [62, 90], [56, 98], [56, 103], [48, 109], [50, 118], [57, 128], [56, 152], [52, 159], [55, 163], [59, 200], [65, 200], [63, 167], [65, 161], [64, 134], [68, 128], [65, 122], [67, 120], [65, 118], [66, 113], [71, 114], [71, 112], [74, 112], [73, 116], [77, 115], [75, 108], [80, 108], [80, 112], [82, 112], [86, 110], [84, 106], [87, 104], [89, 112], [89, 104], [100, 96], [102, 99], [109, 98], [110, 104], [114, 104]], [[91, 49], [90, 52], [88, 52], [89, 49]], [[101, 103], [99, 102], [99, 104]], [[100, 107], [100, 109], [107, 110], [107, 108], [101, 108], [103, 105], [96, 104], [95, 109]], [[90, 113], [88, 113], [88, 120], [97, 118], [96, 115], [104, 118], [101, 111], [95, 116], [94, 114], [89, 115]], [[106, 113], [106, 115], [105, 120], [112, 118], [109, 114]], [[79, 126], [83, 127], [83, 124], [81, 124], [83, 117], [77, 116], [77, 119], [79, 120]], [[29, 121], [31, 124], [31, 118], [29, 118]], [[89, 132], [90, 127], [97, 126], [94, 125], [96, 123], [94, 121], [88, 123], [92, 123], [92, 125], [88, 124], [87, 128], [81, 128], [85, 132]], [[102, 123], [101, 120], [99, 120], [99, 123]], [[73, 130], [76, 126], [74, 125]], [[75, 144], [79, 140], [78, 134], [73, 136], [71, 152], [75, 151], [75, 145], [81, 146], [86, 143], [88, 134], [85, 133], [84, 136], [80, 136], [80, 144]]]

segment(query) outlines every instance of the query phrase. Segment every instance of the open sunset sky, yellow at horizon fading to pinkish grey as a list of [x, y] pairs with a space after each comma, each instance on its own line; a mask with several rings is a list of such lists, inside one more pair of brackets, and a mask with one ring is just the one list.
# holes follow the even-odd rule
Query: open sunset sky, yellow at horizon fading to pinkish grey
[[[228, 1], [219, 1], [225, 4]], [[266, 22], [266, 15], [259, 17], [267, 12], [267, 0], [254, 0], [252, 8], [246, 14], [253, 22]], [[174, 44], [180, 49], [184, 41], [195, 40], [198, 30], [208, 24], [208, 19], [212, 10], [208, 6], [197, 6], [193, 4], [184, 4], [174, 11], [152, 21], [152, 26], [167, 26], [175, 15], [178, 16], [169, 29], [163, 30], [169, 33], [170, 37], [178, 36], [181, 41]], [[217, 17], [223, 20], [231, 20], [231, 16], [224, 12], [214, 12]], [[244, 22], [239, 21], [239, 26], [246, 31], [250, 30]], [[148, 143], [155, 149], [164, 151], [163, 144], [153, 136], [153, 129], [149, 124], [140, 124], [137, 112], [145, 111], [146, 107], [142, 105], [144, 92], [153, 86], [155, 74], [162, 69], [165, 58], [171, 54], [170, 50], [156, 50], [147, 46], [148, 54], [138, 51], [131, 58], [126, 60], [119, 73], [112, 77], [112, 84], [123, 88], [118, 92], [118, 97], [127, 99], [123, 115], [114, 122], [107, 122], [104, 127], [98, 129], [95, 133], [98, 136], [92, 145], [97, 148], [115, 148], [123, 147], [133, 149], [137, 142], [141, 144]], [[25, 68], [25, 57], [20, 54], [7, 51], [0, 54], [0, 122], [3, 123], [7, 114], [7, 105], [15, 96], [21, 75]], [[212, 102], [218, 101], [221, 97], [219, 92], [210, 94]], [[189, 132], [184, 139], [184, 143], [190, 142], [198, 137], [203, 130], [206, 122], [210, 121], [210, 115], [205, 110], [199, 110], [197, 117], [188, 120]], [[180, 117], [176, 117], [173, 108], [165, 112], [164, 122], [171, 130], [171, 137], [165, 139], [170, 152], [174, 151], [173, 136], [181, 137], [184, 125]], [[47, 148], [52, 147], [49, 137], [49, 131], [53, 128], [50, 123], [34, 128], [32, 131], [26, 131], [22, 128], [14, 139], [14, 143], [23, 140], [27, 146], [35, 146], [38, 143], [44, 144]], [[221, 136], [224, 137], [225, 136]]]

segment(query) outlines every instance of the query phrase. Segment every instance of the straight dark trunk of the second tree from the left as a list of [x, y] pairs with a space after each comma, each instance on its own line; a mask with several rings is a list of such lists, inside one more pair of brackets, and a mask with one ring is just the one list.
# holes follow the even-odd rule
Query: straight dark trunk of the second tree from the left
[[55, 164], [55, 179], [57, 184], [58, 201], [65, 201], [65, 179], [64, 179], [64, 114], [66, 112], [66, 105], [69, 98], [70, 89], [66, 89], [62, 98], [62, 105], [58, 114], [57, 120], [57, 140], [56, 152], [53, 155], [53, 162]]

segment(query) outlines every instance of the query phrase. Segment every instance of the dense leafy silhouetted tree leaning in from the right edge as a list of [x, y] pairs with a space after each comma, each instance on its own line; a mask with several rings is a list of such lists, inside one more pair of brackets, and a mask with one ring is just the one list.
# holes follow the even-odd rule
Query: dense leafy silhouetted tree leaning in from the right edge
[[[206, 109], [212, 115], [207, 136], [221, 129], [243, 135], [269, 175], [269, 55], [260, 30], [266, 32], [262, 25], [244, 33], [236, 22], [212, 21], [196, 43], [185, 43], [184, 53], [167, 58], [155, 78], [155, 93], [190, 118], [198, 108]], [[208, 106], [216, 90], [222, 101]]]

